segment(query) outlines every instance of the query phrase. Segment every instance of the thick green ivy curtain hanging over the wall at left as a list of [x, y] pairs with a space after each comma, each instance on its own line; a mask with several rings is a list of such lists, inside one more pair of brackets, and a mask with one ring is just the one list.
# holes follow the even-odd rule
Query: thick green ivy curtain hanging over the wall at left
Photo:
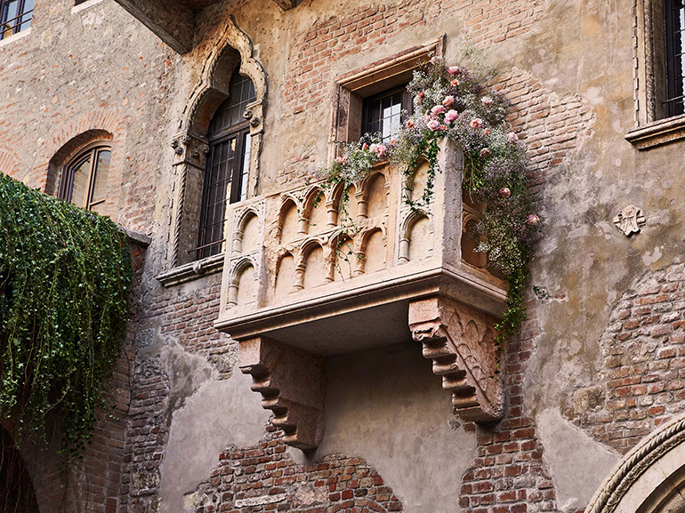
[[61, 448], [91, 435], [129, 318], [132, 268], [108, 218], [0, 174], [0, 417], [21, 437], [61, 419]]

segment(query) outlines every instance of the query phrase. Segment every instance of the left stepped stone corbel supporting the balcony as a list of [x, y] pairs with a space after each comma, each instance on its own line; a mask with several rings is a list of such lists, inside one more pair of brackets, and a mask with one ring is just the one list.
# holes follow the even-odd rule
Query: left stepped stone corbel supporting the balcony
[[324, 437], [326, 378], [322, 357], [278, 341], [258, 337], [240, 341], [238, 365], [253, 378], [262, 407], [273, 412], [273, 425], [284, 441], [313, 449]]

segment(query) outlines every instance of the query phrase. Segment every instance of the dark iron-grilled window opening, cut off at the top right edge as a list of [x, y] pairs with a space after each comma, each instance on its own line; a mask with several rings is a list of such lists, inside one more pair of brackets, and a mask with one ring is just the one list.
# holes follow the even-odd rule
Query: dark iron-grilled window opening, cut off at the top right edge
[[665, 0], [666, 89], [668, 116], [685, 114], [685, 3]]

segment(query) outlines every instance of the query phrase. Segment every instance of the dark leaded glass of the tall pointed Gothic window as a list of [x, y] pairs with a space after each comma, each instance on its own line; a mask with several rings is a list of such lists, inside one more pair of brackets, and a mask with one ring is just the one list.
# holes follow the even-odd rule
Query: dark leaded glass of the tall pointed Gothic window
[[243, 114], [256, 99], [254, 84], [240, 75], [230, 78], [230, 95], [216, 109], [209, 125], [197, 258], [222, 252], [226, 205], [246, 199], [250, 158], [250, 122]]

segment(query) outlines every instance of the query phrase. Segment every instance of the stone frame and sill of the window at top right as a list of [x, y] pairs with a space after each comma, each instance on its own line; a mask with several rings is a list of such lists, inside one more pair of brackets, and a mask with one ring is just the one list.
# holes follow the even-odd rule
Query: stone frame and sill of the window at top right
[[656, 76], [663, 75], [665, 42], [663, 30], [655, 26], [662, 20], [663, 0], [633, 0], [633, 71], [635, 127], [625, 139], [635, 148], [648, 149], [685, 139], [685, 115], [660, 117], [659, 99], [665, 97]]

